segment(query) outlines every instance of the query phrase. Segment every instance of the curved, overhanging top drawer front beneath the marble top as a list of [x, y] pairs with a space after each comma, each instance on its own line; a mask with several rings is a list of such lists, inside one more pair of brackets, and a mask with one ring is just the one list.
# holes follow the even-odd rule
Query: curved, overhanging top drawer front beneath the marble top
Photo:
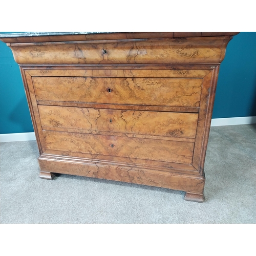
[[10, 48], [15, 61], [23, 65], [220, 63], [223, 40], [224, 36], [34, 42]]

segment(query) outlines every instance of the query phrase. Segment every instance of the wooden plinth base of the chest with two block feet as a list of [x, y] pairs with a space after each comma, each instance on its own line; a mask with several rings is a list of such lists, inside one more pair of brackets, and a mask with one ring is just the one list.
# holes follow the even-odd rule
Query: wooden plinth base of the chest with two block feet
[[203, 202], [204, 175], [188, 175], [139, 168], [130, 164], [111, 161], [85, 160], [68, 156], [41, 155], [38, 158], [40, 178], [53, 179], [54, 174], [69, 174], [84, 177], [121, 181], [148, 186], [186, 191], [187, 201]]

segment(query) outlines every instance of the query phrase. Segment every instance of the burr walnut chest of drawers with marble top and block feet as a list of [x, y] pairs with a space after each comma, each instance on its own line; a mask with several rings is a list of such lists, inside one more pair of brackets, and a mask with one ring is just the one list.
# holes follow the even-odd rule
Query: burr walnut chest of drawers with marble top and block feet
[[2, 35], [22, 73], [40, 177], [178, 189], [203, 202], [219, 67], [236, 34]]

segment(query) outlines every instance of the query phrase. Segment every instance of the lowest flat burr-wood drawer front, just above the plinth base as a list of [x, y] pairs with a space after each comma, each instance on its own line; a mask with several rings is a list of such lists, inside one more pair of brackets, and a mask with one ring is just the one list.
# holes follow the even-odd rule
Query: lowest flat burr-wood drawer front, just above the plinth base
[[193, 142], [43, 131], [47, 150], [191, 164]]

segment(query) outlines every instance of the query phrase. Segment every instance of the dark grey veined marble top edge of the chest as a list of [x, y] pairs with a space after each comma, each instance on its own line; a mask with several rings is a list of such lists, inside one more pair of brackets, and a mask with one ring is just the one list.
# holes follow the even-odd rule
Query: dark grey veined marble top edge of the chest
[[120, 32], [19, 32], [1, 34], [0, 38], [5, 37], [27, 37], [27, 36], [49, 36], [49, 35], [86, 35], [86, 34], [104, 34], [104, 33], [120, 33]]

